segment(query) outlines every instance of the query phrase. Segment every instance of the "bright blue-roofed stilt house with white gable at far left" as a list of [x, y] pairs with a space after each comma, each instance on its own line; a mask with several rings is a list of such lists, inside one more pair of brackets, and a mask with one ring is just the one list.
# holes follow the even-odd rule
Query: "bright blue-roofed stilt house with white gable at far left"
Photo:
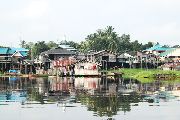
[[5, 72], [10, 69], [20, 69], [20, 64], [26, 59], [29, 50], [25, 48], [0, 48], [0, 68]]

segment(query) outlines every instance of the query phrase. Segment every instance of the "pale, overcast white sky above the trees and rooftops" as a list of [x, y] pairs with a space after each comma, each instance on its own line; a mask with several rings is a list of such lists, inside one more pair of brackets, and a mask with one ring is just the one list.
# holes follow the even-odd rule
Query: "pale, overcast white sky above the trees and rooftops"
[[146, 44], [180, 45], [180, 0], [0, 0], [0, 46], [81, 42], [113, 26]]

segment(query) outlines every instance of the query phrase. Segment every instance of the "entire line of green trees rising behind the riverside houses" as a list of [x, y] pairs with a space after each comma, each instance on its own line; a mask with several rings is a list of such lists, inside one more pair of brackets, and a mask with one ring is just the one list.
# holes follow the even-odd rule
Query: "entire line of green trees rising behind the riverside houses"
[[[80, 52], [110, 50], [114, 53], [122, 53], [128, 51], [141, 51], [153, 46], [152, 42], [147, 44], [139, 43], [138, 40], [131, 41], [130, 35], [119, 35], [112, 26], [105, 29], [98, 29], [95, 33], [89, 34], [85, 41], [76, 43], [74, 41], [61, 41], [60, 44], [70, 45]], [[26, 43], [25, 40], [20, 41], [20, 46], [31, 50], [29, 56], [36, 57], [41, 52], [58, 47], [58, 43], [49, 41], [38, 41], [36, 43]]]

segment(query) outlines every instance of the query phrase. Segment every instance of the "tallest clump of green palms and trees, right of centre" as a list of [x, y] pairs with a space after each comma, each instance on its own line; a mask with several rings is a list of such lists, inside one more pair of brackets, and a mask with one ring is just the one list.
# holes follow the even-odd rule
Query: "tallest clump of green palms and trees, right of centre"
[[112, 26], [107, 26], [105, 29], [98, 29], [95, 33], [88, 35], [86, 40], [81, 42], [79, 46], [79, 50], [82, 52], [106, 49], [114, 53], [121, 53], [125, 51], [144, 50], [152, 47], [153, 43], [148, 42], [147, 44], [142, 45], [138, 40], [131, 42], [130, 35], [122, 34], [119, 36]]

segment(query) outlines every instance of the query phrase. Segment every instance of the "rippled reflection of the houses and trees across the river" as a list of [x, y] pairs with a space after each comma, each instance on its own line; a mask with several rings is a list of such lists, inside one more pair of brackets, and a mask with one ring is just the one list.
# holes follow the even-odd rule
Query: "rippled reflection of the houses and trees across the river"
[[140, 83], [133, 79], [112, 78], [0, 78], [0, 104], [55, 104], [66, 112], [80, 103], [94, 116], [129, 112], [139, 103], [160, 103], [179, 100], [180, 83], [155, 81]]

